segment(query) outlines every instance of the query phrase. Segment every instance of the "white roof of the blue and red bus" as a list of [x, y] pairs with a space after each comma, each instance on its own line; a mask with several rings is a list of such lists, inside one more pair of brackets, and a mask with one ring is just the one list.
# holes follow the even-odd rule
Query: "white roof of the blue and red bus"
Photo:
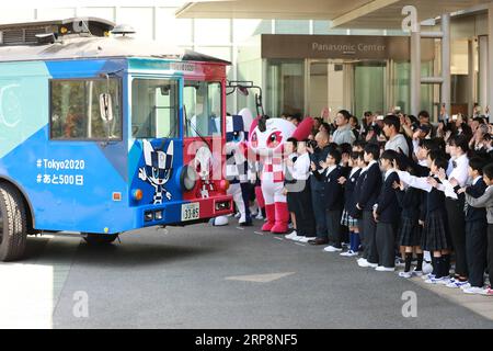
[[229, 61], [128, 35], [69, 35], [53, 44], [0, 46], [0, 63], [81, 58], [148, 57], [230, 65]]

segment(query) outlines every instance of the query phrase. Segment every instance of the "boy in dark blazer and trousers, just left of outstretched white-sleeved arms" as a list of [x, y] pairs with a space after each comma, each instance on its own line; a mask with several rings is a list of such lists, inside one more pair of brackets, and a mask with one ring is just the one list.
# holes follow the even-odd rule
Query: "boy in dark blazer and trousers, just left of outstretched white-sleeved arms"
[[375, 234], [378, 257], [378, 272], [393, 272], [395, 270], [395, 226], [400, 215], [399, 203], [393, 184], [400, 182], [395, 172], [395, 160], [399, 157], [394, 150], [386, 150], [380, 156], [380, 169], [385, 172], [385, 180], [380, 195], [374, 207], [374, 218], [377, 223]]

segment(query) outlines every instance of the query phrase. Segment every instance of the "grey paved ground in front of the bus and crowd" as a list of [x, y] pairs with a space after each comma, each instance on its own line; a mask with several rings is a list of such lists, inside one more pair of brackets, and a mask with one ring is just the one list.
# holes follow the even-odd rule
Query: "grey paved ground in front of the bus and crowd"
[[[445, 287], [255, 234], [259, 225], [144, 229], [104, 248], [76, 237], [31, 238], [25, 261], [0, 264], [0, 327], [493, 327], [489, 297], [465, 303]], [[415, 318], [402, 315], [410, 291]]]

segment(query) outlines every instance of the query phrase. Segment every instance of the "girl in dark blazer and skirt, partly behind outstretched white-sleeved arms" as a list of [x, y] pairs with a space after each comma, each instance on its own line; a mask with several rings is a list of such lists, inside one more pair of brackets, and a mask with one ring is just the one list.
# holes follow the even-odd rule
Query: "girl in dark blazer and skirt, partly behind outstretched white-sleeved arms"
[[[416, 173], [420, 172], [420, 170], [414, 170], [412, 165], [400, 165], [400, 162], [398, 162], [399, 170], [405, 170], [405, 166], [408, 166], [406, 171], [412, 176], [416, 176]], [[421, 171], [424, 172], [424, 169]], [[429, 174], [429, 170], [427, 173]], [[404, 252], [404, 271], [399, 272], [399, 276], [408, 279], [413, 275], [421, 276], [423, 275], [423, 250], [421, 249], [422, 229], [420, 226], [420, 218], [423, 218], [424, 222], [423, 214], [426, 213], [425, 211], [422, 212], [421, 207], [424, 194], [422, 190], [405, 186], [402, 181], [395, 182], [393, 188], [399, 205], [402, 208], [398, 231], [398, 245], [401, 248], [401, 251]], [[416, 268], [411, 271], [413, 252], [416, 253], [417, 263]]]

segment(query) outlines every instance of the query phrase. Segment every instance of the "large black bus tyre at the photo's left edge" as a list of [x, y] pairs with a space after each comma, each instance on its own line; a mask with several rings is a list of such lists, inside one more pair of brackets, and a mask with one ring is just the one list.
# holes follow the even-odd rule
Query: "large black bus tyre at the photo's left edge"
[[27, 219], [19, 191], [0, 184], [0, 261], [14, 261], [24, 254], [27, 240]]

